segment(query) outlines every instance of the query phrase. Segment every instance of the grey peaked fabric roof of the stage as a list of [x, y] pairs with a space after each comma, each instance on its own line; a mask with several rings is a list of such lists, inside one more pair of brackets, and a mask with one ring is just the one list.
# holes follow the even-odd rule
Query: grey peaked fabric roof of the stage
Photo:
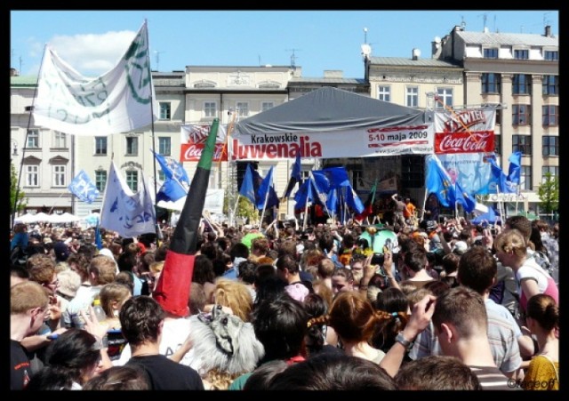
[[236, 123], [241, 134], [323, 132], [423, 124], [424, 112], [325, 86]]

